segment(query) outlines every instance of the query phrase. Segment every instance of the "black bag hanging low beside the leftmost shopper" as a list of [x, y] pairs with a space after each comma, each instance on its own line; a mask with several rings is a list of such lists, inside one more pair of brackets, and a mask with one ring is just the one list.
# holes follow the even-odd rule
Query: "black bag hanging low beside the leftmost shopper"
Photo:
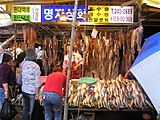
[[2, 120], [11, 120], [13, 117], [14, 108], [11, 104], [11, 101], [8, 99], [4, 100], [2, 110], [0, 112], [0, 119]]

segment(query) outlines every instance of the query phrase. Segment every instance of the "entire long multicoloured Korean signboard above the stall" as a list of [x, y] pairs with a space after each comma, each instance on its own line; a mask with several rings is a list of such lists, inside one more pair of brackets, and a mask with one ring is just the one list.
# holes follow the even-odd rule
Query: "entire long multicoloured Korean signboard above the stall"
[[[57, 22], [60, 16], [67, 16], [65, 22], [72, 22], [74, 5], [14, 5], [12, 20], [16, 22]], [[92, 24], [133, 23], [132, 6], [78, 6], [77, 21]], [[85, 18], [87, 16], [88, 18]]]

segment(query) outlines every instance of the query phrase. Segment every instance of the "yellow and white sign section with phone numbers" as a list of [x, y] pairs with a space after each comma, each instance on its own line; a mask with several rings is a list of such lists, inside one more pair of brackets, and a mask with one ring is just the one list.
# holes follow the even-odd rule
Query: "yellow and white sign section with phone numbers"
[[131, 6], [88, 6], [88, 22], [133, 23], [134, 8]]

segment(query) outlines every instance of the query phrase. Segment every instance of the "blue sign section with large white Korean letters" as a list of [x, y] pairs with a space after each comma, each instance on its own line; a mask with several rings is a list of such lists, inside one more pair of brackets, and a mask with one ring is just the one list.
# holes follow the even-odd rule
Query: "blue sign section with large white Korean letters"
[[[56, 5], [42, 5], [42, 12], [41, 12], [41, 22], [52, 22], [52, 21], [59, 21], [61, 15], [68, 16], [66, 22], [71, 22], [73, 20], [74, 14], [74, 6], [56, 6]], [[85, 15], [88, 11], [88, 7], [85, 6], [78, 6], [77, 9], [77, 20], [79, 22], [87, 22], [85, 21]]]

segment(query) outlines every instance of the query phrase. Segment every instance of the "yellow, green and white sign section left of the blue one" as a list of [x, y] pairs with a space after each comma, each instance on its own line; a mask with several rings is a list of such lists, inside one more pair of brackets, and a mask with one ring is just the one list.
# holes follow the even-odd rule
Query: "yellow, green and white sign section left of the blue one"
[[41, 22], [41, 5], [14, 5], [11, 18], [15, 22]]

